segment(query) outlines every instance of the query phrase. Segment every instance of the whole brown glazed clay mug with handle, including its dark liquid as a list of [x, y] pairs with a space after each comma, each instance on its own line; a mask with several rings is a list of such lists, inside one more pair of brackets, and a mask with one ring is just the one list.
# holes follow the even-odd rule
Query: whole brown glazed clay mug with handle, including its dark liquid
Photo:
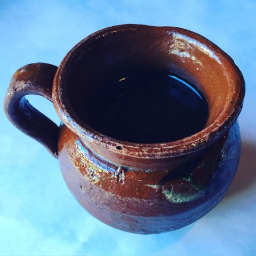
[[[244, 79], [201, 35], [121, 25], [79, 42], [57, 68], [12, 77], [10, 121], [58, 158], [77, 201], [108, 225], [138, 234], [201, 218], [236, 173]], [[25, 99], [51, 100], [57, 126]]]

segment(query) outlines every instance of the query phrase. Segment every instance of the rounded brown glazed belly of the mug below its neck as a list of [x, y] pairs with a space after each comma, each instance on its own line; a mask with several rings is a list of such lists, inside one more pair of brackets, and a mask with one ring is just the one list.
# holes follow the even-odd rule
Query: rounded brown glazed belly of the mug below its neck
[[59, 137], [61, 171], [77, 201], [102, 222], [138, 234], [175, 230], [209, 212], [230, 186], [240, 150], [237, 122], [173, 171], [109, 163], [94, 156], [65, 125]]

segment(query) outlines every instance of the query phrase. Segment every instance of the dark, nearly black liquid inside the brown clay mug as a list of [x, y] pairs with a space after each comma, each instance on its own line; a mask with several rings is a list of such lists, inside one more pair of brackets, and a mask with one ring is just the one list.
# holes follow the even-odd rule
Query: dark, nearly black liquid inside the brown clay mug
[[89, 115], [85, 123], [111, 138], [161, 143], [202, 130], [208, 106], [195, 86], [175, 76], [141, 74], [105, 84], [90, 102]]

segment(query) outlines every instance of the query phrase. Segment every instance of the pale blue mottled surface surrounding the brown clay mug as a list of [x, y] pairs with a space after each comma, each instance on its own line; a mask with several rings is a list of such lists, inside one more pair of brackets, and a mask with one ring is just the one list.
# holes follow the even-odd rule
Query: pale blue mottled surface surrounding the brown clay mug
[[[0, 109], [1, 255], [255, 255], [256, 1], [0, 1], [0, 105], [9, 80], [32, 62], [59, 65], [78, 41], [122, 23], [177, 26], [226, 51], [246, 81], [239, 116], [242, 157], [221, 203], [195, 223], [160, 235], [108, 227], [75, 201], [58, 161]], [[50, 102], [29, 101], [59, 124]]]

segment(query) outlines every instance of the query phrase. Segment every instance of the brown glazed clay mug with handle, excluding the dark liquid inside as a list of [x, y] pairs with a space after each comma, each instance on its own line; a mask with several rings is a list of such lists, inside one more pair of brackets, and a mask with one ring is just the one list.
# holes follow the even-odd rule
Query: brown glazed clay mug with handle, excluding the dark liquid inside
[[[82, 122], [79, 111], [86, 108], [77, 109], [77, 102], [95, 97], [94, 88], [106, 77], [133, 70], [164, 70], [196, 85], [209, 105], [204, 129], [178, 141], [140, 144], [109, 138]], [[67, 186], [89, 213], [112, 227], [151, 234], [188, 225], [225, 195], [239, 161], [236, 119], [244, 92], [234, 61], [203, 36], [175, 27], [121, 25], [83, 39], [59, 67], [20, 68], [4, 109], [18, 129], [58, 158]], [[60, 127], [26, 94], [52, 101]]]

